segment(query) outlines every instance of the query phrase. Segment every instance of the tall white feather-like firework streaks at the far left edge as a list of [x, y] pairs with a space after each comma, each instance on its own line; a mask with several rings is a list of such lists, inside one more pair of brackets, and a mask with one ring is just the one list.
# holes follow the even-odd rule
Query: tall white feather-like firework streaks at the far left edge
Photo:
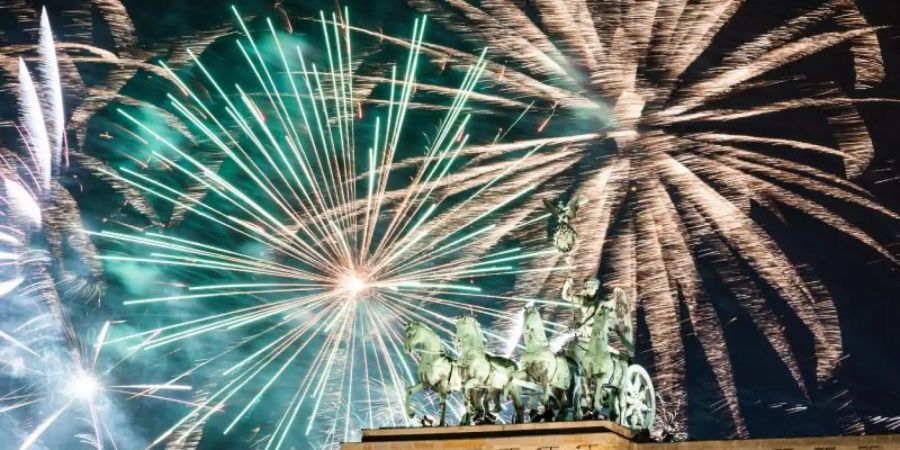
[[[73, 298], [98, 300], [103, 284], [96, 249], [81, 228], [78, 205], [58, 181], [68, 160], [63, 95], [46, 12], [40, 24], [38, 77], [32, 77], [23, 58], [18, 59], [17, 128], [24, 151], [0, 148], [0, 177], [4, 180], [0, 206], [5, 209], [4, 236], [9, 237], [3, 239], [3, 245], [11, 248], [9, 264], [4, 267], [8, 270], [3, 272], [20, 279], [42, 279], [45, 301], [57, 305], [55, 314], [61, 317], [59, 294], [48, 267], [59, 274], [63, 291]], [[46, 242], [45, 250], [32, 248], [35, 236]], [[67, 262], [64, 254], [69, 250], [80, 256], [77, 264]]]

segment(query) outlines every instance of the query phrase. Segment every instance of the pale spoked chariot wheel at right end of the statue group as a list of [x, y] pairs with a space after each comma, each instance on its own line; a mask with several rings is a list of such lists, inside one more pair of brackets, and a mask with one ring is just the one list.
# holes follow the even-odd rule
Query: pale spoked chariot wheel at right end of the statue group
[[656, 417], [656, 393], [653, 381], [643, 367], [632, 364], [625, 369], [619, 388], [620, 425], [632, 430], [649, 430]]

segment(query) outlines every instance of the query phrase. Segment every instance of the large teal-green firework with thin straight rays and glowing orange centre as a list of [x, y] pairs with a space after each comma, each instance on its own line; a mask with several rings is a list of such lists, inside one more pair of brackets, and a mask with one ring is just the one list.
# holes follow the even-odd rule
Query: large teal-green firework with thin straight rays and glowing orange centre
[[[179, 80], [179, 95], [169, 96], [172, 108], [226, 155], [218, 171], [164, 129], [121, 111], [147, 143], [149, 165], [164, 170], [153, 175], [123, 167], [107, 175], [186, 216], [165, 232], [98, 234], [114, 249], [102, 256], [110, 271], [137, 264], [176, 274], [152, 284], [164, 286], [164, 295], [125, 302], [143, 311], [173, 311], [168, 315], [175, 320], [119, 339], [146, 338], [147, 349], [233, 339], [176, 378], [215, 373], [219, 382], [151, 445], [185, 439], [225, 405], [227, 434], [260, 403], [279, 404], [267, 449], [288, 445], [298, 429], [307, 435], [317, 430], [326, 445], [353, 438], [360, 424], [406, 424], [377, 415], [372, 406], [384, 401], [372, 397], [384, 397], [385, 386], [396, 394], [384, 398], [396, 399], [415, 382], [401, 350], [404, 322], [424, 321], [448, 336], [455, 315], [494, 321], [511, 317], [505, 311], [510, 304], [562, 304], [492, 295], [474, 284], [514, 276], [520, 264], [555, 252], [494, 245], [496, 233], [508, 231], [497, 230], [496, 217], [533, 186], [498, 189], [500, 173], [458, 195], [434, 192], [469, 141], [466, 109], [484, 59], [474, 61], [435, 131], [421, 142], [408, 116], [424, 19], [416, 21], [406, 61], [390, 70], [385, 107], [369, 115], [358, 98], [346, 16], [320, 17], [321, 62], [288, 45], [271, 22], [262, 37], [252, 38], [244, 27], [247, 39], [238, 48], [250, 88], [226, 88], [194, 58], [214, 98], [201, 98], [195, 84], [164, 66]], [[409, 146], [424, 148], [422, 164], [397, 173], [395, 155]], [[510, 161], [509, 170], [539, 149], [534, 145]], [[207, 193], [198, 198], [179, 187], [188, 182]], [[470, 207], [476, 202], [490, 206]], [[365, 405], [367, 411], [355, 410]]]

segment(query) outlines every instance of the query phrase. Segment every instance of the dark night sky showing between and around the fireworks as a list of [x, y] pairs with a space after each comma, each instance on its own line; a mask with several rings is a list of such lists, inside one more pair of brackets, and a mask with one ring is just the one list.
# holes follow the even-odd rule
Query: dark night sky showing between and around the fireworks
[[[103, 2], [0, 0], [0, 48], [4, 52], [10, 49], [10, 55], [13, 55], [17, 54], [12, 49], [13, 45], [36, 42], [37, 22], [33, 18], [28, 19], [27, 14], [21, 11], [30, 10], [36, 17], [40, 6], [45, 5], [58, 42], [91, 43], [114, 53], [121, 52], [121, 49], [117, 50], [117, 43], [110, 32], [110, 26], [115, 24], [105, 23], [98, 9], [101, 6], [92, 6], [91, 3]], [[202, 52], [203, 60], [219, 73], [228, 72], [229, 64], [233, 64], [236, 52], [231, 43], [234, 35], [230, 32], [235, 29], [235, 23], [226, 3], [211, 0], [125, 0], [122, 3], [135, 24], [135, 41], [129, 50], [135, 58], [155, 63], [169, 61], [174, 56], [177, 61], [173, 68], [183, 69], [182, 66], [187, 65], [183, 53], [184, 43], [202, 40], [207, 35], [221, 35], [210, 42], [205, 51], [205, 44], [192, 44], [189, 47], [198, 53]], [[525, 3], [525, 0], [521, 3]], [[702, 72], [706, 67], [715, 66], [721, 58], [722, 49], [732, 48], [735, 43], [752, 39], [760, 32], [796, 16], [799, 11], [820, 3], [813, 0], [747, 0], [716, 36], [710, 48], [688, 69], [686, 77]], [[900, 212], [900, 32], [896, 28], [900, 24], [900, 4], [894, 0], [856, 0], [856, 3], [872, 26], [881, 27], [878, 38], [886, 77], [879, 85], [856, 90], [853, 95], [892, 100], [861, 103], [857, 106], [874, 142], [875, 156], [868, 168], [854, 181], [872, 193], [878, 203]], [[264, 17], [273, 18], [282, 29], [286, 28], [289, 20], [293, 33], [309, 46], [316, 45], [320, 29], [319, 24], [306, 19], [317, 15], [319, 10], [331, 11], [338, 6], [334, 2], [313, 0], [286, 0], [283, 4], [278, 2], [274, 6], [271, 1], [261, 0], [235, 0], [232, 4], [237, 6], [244, 17], [254, 18], [249, 22], [251, 29], [261, 29], [264, 26], [261, 18]], [[412, 20], [419, 15], [402, 0], [349, 1], [340, 3], [340, 6], [349, 7], [354, 25], [381, 30], [389, 35], [408, 36]], [[470, 52], [479, 50], [462, 36], [447, 31], [437, 21], [429, 24], [425, 40]], [[778, 69], [767, 78], [799, 78], [813, 83], [829, 81], [852, 90], [854, 73], [847, 52], [848, 46], [841, 44], [818, 52]], [[402, 54], [392, 53], [396, 50], [380, 48], [378, 43], [367, 42], [359, 48], [362, 54], [371, 53], [372, 60], [376, 62]], [[420, 81], [454, 85], [460, 79], [458, 73], [444, 73], [432, 62], [426, 62], [422, 67]], [[14, 80], [15, 73], [9, 71], [14, 68], [15, 65], [9, 64], [0, 67], [0, 81]], [[69, 130], [67, 136], [72, 151], [114, 165], [128, 164], [123, 154], [114, 150], [114, 146], [123, 142], [119, 140], [120, 136], [124, 136], [122, 120], [115, 113], [115, 107], [127, 102], [131, 104], [127, 104], [125, 108], [138, 108], [135, 105], [141, 102], [162, 104], [170, 87], [161, 82], [157, 75], [137, 70], [124, 83], [115, 84], [116, 92], [127, 97], [127, 102], [121, 98], [102, 98], [109, 93], [96, 88], [113, 85], [111, 83], [114, 83], [115, 74], [110, 66], [82, 62], [77, 64], [77, 69], [84, 85], [71, 88], [64, 86], [69, 114], [79, 105], [89, 102], [108, 105], [88, 109], [86, 116], [78, 120], [77, 126], [80, 129]], [[246, 74], [232, 75], [235, 80], [240, 80]], [[94, 97], [89, 97], [90, 95]], [[15, 105], [14, 90], [4, 89], [0, 92], [0, 146], [7, 149], [20, 145], [16, 131], [11, 126], [16, 120]], [[474, 125], [475, 132], [492, 133], [490, 130], [507, 124], [509, 117], [506, 111], [503, 114], [480, 117], [479, 122]], [[539, 119], [534, 119], [534, 123], [530, 125], [536, 125]], [[807, 140], [826, 145], [833, 139], [821, 123], [805, 121], [802, 115], [779, 116], [777, 120], [763, 116], [749, 121], [746, 127], [748, 133], [777, 130], [801, 135]], [[104, 133], [111, 133], [113, 139], [104, 137]], [[827, 159], [810, 161], [810, 164], [835, 173], [841, 170], [839, 163]], [[123, 217], [133, 214], [122, 207], [118, 194], [77, 163], [63, 174], [61, 181], [73, 193], [87, 229], [98, 230], [112, 222], [127, 222]], [[841, 207], [840, 204], [835, 206]], [[900, 346], [897, 345], [900, 342], [900, 267], [846, 234], [796, 210], [780, 207], [777, 212], [775, 214], [766, 205], [751, 206], [754, 220], [774, 238], [795, 265], [814, 272], [830, 294], [840, 322], [845, 357], [838, 365], [833, 379], [822, 386], [812, 386], [809, 399], [803, 399], [803, 394], [798, 392], [793, 380], [786, 375], [777, 355], [767, 347], [760, 333], [742, 313], [741, 306], [731, 298], [724, 286], [709, 283], [708, 294], [717, 305], [720, 319], [725, 322], [734, 321], [732, 326], [726, 328], [725, 337], [732, 356], [740, 410], [750, 435], [775, 437], [842, 433], [845, 431], [845, 424], [842, 423], [844, 416], [835, 411], [840, 409], [840, 403], [847, 400], [852, 400], [855, 413], [865, 419], [865, 433], [897, 432], [900, 430]], [[861, 208], [846, 207], [837, 212], [862, 226], [894, 255], [900, 256], [900, 223], [897, 220]], [[98, 246], [101, 252], [119, 250], [104, 247], [104, 244]], [[101, 306], [84, 303], [72, 303], [68, 306], [76, 329], [91, 329], [91, 325], [101, 321], [98, 317], [116, 318], [122, 315], [127, 315], [129, 325], [138, 329], [162, 323], [162, 316], [154, 315], [160, 312], [158, 309], [148, 309], [145, 316], [135, 317], [134, 310], [122, 307], [122, 300], [133, 297], [138, 290], [129, 287], [133, 280], [122, 273], [106, 276], [109, 277], [109, 286]], [[496, 288], [502, 289], [508, 288], [511, 281], [500, 280], [498, 283], [500, 286]], [[0, 314], [4, 314], [2, 305]], [[646, 342], [646, 325], [639, 322], [637, 333], [638, 344]], [[720, 394], [715, 389], [708, 388], [714, 379], [700, 350], [699, 340], [693, 336], [693, 331], [687, 324], [682, 333], [687, 336], [684, 340], [688, 392], [686, 431], [691, 439], [729, 437], [733, 430], [728, 423], [727, 414], [717, 404]], [[797, 328], [788, 326], [786, 334], [797, 343], [796, 353], [804, 376], [814, 379], [815, 365], [809, 355], [812, 339], [808, 336], [808, 331], [798, 324]], [[185, 354], [175, 355], [168, 362], [183, 363], [189, 357], [190, 355]], [[641, 358], [639, 355], [638, 360], [642, 361]], [[647, 360], [643, 362], [651, 365]], [[148, 360], [126, 363], [129, 370], [144, 373], [154, 373], [160, 365], [161, 363]], [[202, 385], [210, 382], [209, 379], [201, 378], [195, 380], [195, 383]], [[0, 390], [2, 389], [0, 379]], [[287, 390], [276, 390], [274, 395], [277, 399], [290, 394]], [[281, 407], [280, 403], [278, 405]], [[125, 410], [126, 418], [118, 425], [133, 426], [139, 436], [158, 433], [169, 426], [173, 419], [180, 417], [181, 412], [171, 406], [155, 410], [152, 405], [132, 405], [131, 402], [120, 406]], [[879, 417], [893, 418], [893, 426], [890, 425], [890, 420], [880, 421]], [[259, 412], [254, 413], [251, 418], [253, 420], [239, 425], [235, 433], [237, 438], [232, 438], [231, 435], [222, 437], [216, 431], [224, 428], [227, 420], [212, 419], [199, 448], [249, 448], [256, 445], [254, 442], [265, 435], [266, 427], [277, 420], [275, 413], [268, 411], [268, 408], [259, 408]], [[5, 426], [8, 424], [0, 422], [0, 430]], [[262, 427], [262, 431], [257, 426]], [[315, 441], [307, 440], [299, 434], [298, 432], [295, 441], [297, 448], [316, 447]], [[7, 445], [12, 444], [0, 442], [0, 448], [13, 448], [6, 447]], [[72, 447], [66, 448], [80, 447], [72, 444]], [[126, 444], [123, 448], [137, 447]]]

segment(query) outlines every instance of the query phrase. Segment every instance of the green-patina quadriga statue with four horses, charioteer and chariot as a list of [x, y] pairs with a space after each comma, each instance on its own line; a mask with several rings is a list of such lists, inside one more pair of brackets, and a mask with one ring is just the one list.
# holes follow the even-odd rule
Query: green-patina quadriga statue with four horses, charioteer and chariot
[[[443, 351], [438, 335], [427, 325], [406, 326], [404, 347], [418, 356], [418, 383], [407, 389], [406, 408], [412, 417], [412, 396], [424, 389], [440, 399], [439, 424], [446, 423], [448, 398], [462, 394], [466, 412], [461, 424], [491, 423], [493, 414], [512, 400], [513, 421], [524, 421], [523, 396], [538, 399], [531, 408], [532, 421], [562, 421], [608, 417], [635, 430], [649, 429], [655, 415], [655, 393], [650, 376], [630, 357], [609, 345], [616, 309], [624, 306], [624, 294], [598, 302], [587, 344], [578, 358], [554, 352], [537, 308], [525, 308], [522, 336], [525, 347], [518, 363], [485, 350], [481, 325], [473, 317], [457, 320], [455, 343], [458, 358]], [[584, 414], [581, 406], [584, 405]]]

